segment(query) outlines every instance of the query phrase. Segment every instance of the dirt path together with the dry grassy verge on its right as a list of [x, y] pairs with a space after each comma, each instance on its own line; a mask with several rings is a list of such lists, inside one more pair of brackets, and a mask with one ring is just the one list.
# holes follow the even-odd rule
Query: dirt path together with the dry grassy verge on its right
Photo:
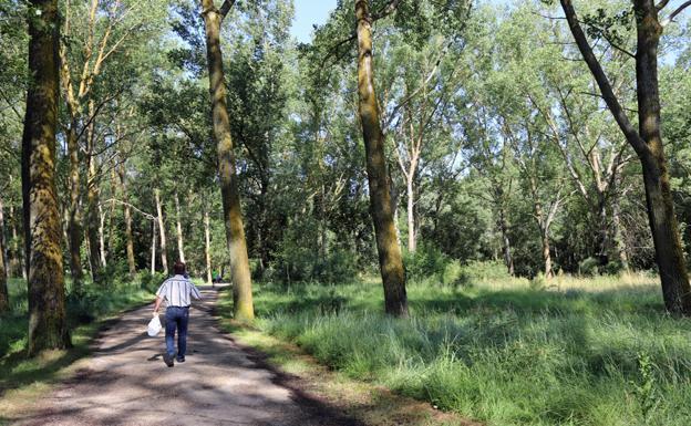
[[[278, 371], [264, 354], [219, 331], [217, 291], [203, 294], [190, 311], [185, 363], [164, 364], [164, 333], [148, 337], [145, 331], [149, 305], [130, 311], [101, 332], [92, 356], [75, 363], [73, 374], [25, 406], [18, 402], [4, 419], [17, 425], [465, 424], [384, 389], [341, 383], [321, 392], [329, 378], [313, 370], [305, 377]], [[357, 412], [369, 412], [370, 419], [380, 412], [381, 420], [363, 423], [368, 416]]]

